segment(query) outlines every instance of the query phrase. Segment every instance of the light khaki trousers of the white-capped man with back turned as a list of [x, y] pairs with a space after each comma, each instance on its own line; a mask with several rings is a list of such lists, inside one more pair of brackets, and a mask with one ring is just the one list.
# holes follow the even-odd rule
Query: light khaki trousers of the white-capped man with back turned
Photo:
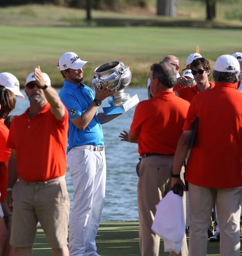
[[191, 183], [189, 183], [189, 256], [206, 256], [207, 229], [211, 221], [213, 208], [212, 190], [215, 190], [216, 193], [216, 207], [220, 228], [220, 255], [239, 256], [239, 220], [242, 187], [211, 189]]

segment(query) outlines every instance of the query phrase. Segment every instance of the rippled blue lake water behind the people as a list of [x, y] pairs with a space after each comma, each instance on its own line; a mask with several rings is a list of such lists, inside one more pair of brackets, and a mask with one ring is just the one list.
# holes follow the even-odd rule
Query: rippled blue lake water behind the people
[[[60, 90], [60, 89], [59, 89]], [[59, 91], [58, 90], [58, 91]], [[24, 90], [21, 90], [26, 96]], [[138, 94], [139, 100], [147, 99], [147, 88], [128, 88], [131, 96]], [[107, 105], [107, 100], [101, 106]], [[17, 104], [10, 114], [22, 114], [29, 107], [29, 100], [17, 97]], [[138, 145], [120, 141], [123, 130], [129, 131], [135, 108], [102, 125], [107, 160], [107, 183], [102, 222], [138, 220], [137, 182], [135, 167], [138, 163]], [[99, 109], [102, 111], [102, 108]], [[72, 178], [67, 168], [67, 189], [73, 198]]]

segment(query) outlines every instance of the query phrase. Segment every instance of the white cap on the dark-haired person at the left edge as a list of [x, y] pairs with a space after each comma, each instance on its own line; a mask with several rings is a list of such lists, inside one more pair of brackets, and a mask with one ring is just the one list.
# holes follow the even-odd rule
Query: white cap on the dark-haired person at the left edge
[[11, 73], [0, 73], [0, 85], [6, 87], [6, 89], [11, 90], [17, 96], [20, 96], [21, 99], [24, 99], [23, 94], [20, 92], [19, 81], [17, 77]]

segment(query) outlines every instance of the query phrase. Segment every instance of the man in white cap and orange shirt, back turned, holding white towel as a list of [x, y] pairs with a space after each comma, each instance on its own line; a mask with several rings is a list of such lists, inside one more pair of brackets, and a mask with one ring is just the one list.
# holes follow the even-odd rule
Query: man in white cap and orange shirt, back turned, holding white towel
[[[239, 62], [231, 55], [220, 56], [213, 77], [215, 87], [199, 93], [191, 102], [176, 149], [173, 175], [179, 175], [192, 141], [186, 169], [190, 201], [189, 255], [206, 256], [214, 193], [221, 236], [220, 255], [239, 256], [242, 198]], [[172, 178], [172, 186], [174, 184], [184, 186], [179, 177]]]

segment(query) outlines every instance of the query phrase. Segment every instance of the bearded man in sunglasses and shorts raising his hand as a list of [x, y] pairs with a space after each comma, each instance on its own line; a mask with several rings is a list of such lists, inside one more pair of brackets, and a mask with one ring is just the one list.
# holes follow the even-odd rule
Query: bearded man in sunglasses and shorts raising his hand
[[[53, 256], [69, 256], [70, 201], [66, 189], [68, 112], [40, 67], [26, 79], [30, 108], [11, 124], [7, 201], [13, 206], [10, 244], [32, 256], [38, 221]], [[17, 181], [18, 179], [18, 181]]]

